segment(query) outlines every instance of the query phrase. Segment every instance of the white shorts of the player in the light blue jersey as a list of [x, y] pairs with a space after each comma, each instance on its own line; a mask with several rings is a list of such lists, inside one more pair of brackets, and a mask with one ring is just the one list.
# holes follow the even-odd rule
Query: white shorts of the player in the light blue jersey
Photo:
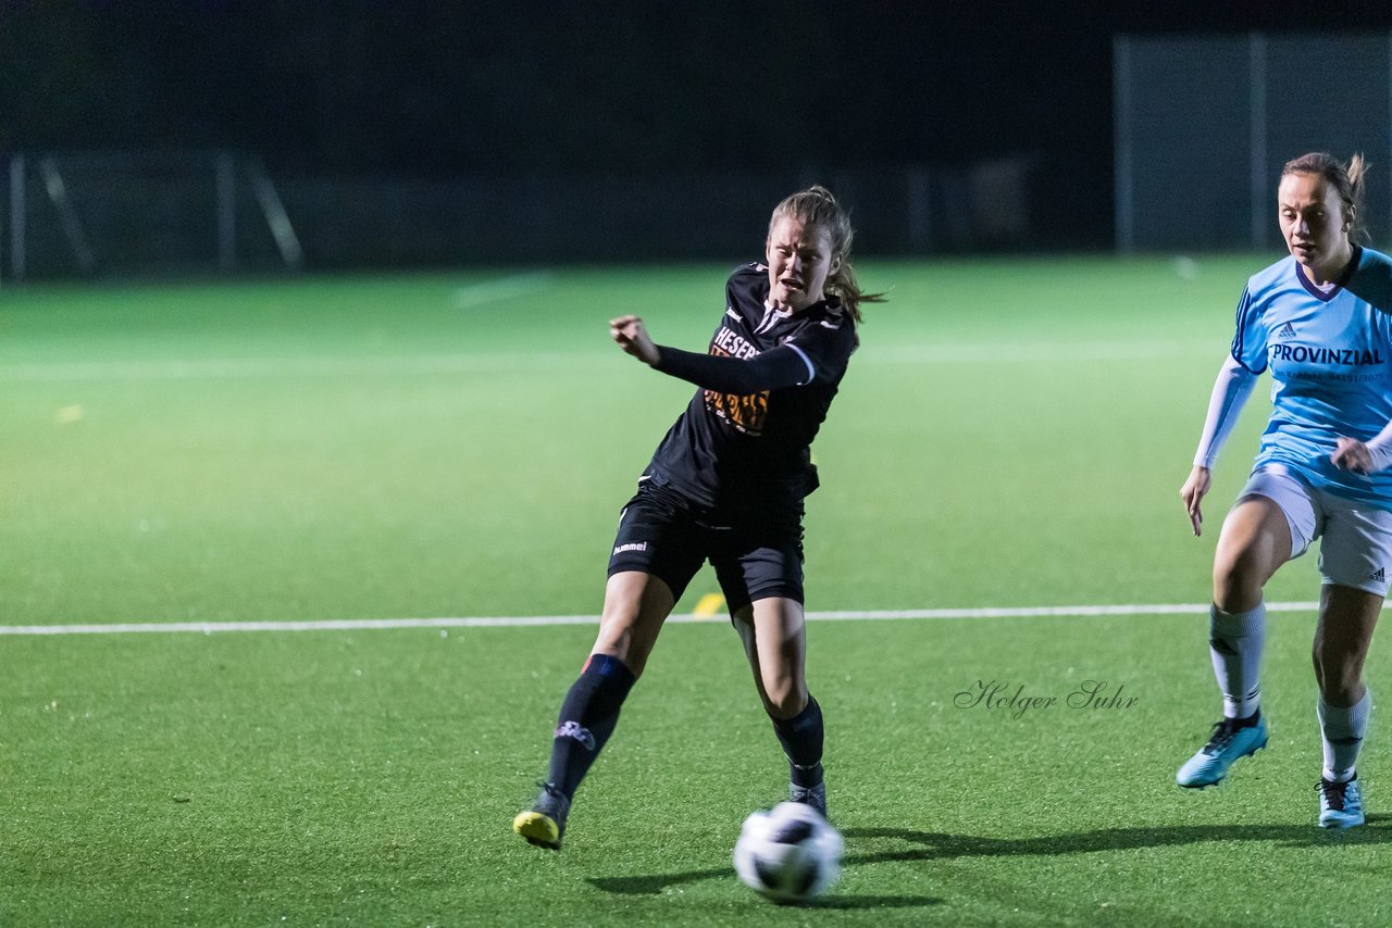
[[1375, 595], [1388, 594], [1392, 566], [1392, 512], [1315, 490], [1281, 465], [1263, 465], [1251, 472], [1237, 502], [1265, 497], [1275, 502], [1290, 525], [1290, 559], [1295, 561], [1315, 538], [1320, 543], [1320, 575], [1336, 583]]

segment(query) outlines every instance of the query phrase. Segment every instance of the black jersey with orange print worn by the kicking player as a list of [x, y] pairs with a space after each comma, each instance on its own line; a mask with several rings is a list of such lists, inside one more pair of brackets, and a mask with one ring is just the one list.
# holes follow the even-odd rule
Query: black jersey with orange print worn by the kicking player
[[[768, 269], [746, 264], [725, 284], [709, 356], [660, 348], [658, 370], [703, 390], [663, 438], [646, 477], [724, 512], [785, 509], [817, 488], [812, 440], [857, 344], [855, 321], [835, 298], [796, 313], [767, 301]], [[767, 363], [713, 362], [766, 352]]]

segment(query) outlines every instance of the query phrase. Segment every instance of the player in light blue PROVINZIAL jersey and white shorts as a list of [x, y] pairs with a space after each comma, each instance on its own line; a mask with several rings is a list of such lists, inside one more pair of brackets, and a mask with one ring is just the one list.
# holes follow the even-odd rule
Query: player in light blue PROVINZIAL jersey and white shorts
[[1364, 821], [1354, 761], [1373, 697], [1363, 662], [1392, 570], [1392, 259], [1354, 243], [1363, 174], [1361, 156], [1343, 166], [1322, 153], [1282, 170], [1276, 205], [1290, 256], [1247, 281], [1232, 353], [1179, 491], [1197, 536], [1218, 449], [1270, 369], [1271, 422], [1214, 554], [1210, 648], [1224, 718], [1176, 781], [1211, 786], [1265, 747], [1261, 590], [1322, 538], [1314, 673], [1325, 828]]

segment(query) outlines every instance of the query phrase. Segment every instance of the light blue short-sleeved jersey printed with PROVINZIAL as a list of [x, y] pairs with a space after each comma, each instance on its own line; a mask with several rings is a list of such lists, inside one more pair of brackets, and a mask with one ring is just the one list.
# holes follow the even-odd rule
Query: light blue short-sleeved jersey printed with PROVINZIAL
[[1253, 274], [1232, 356], [1274, 380], [1258, 466], [1282, 463], [1313, 487], [1392, 509], [1392, 469], [1361, 476], [1329, 462], [1340, 435], [1368, 441], [1392, 422], [1392, 259], [1364, 248], [1352, 267], [1328, 292], [1295, 257]]

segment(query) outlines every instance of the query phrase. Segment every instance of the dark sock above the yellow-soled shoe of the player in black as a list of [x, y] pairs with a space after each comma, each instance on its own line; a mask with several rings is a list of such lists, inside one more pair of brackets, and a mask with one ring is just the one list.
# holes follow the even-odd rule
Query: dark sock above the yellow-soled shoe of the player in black
[[565, 694], [546, 779], [567, 797], [575, 796], [590, 764], [614, 733], [618, 710], [633, 689], [633, 672], [617, 657], [592, 654]]

